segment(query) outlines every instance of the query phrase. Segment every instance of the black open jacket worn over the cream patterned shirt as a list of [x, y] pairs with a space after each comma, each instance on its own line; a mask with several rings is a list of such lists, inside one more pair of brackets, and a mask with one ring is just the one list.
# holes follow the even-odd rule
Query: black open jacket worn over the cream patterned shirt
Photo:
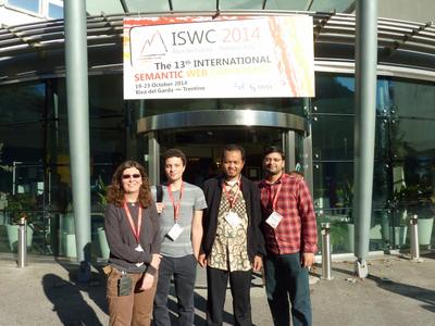
[[[203, 185], [203, 192], [208, 208], [202, 216], [202, 250], [209, 256], [213, 247], [214, 237], [217, 228], [219, 205], [222, 198], [222, 183], [224, 176], [217, 176], [208, 179]], [[248, 215], [248, 256], [251, 262], [256, 255], [264, 255], [264, 238], [260, 229], [261, 208], [260, 195], [257, 186], [246, 177], [241, 176], [241, 193], [246, 202], [246, 212]]]

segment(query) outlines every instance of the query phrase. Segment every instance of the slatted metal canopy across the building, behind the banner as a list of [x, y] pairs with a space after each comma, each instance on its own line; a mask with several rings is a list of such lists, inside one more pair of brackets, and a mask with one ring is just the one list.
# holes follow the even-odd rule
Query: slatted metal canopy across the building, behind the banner
[[[179, 0], [181, 1], [181, 0]], [[130, 1], [124, 0], [126, 8]], [[144, 2], [144, 1], [141, 1]], [[147, 1], [148, 2], [148, 1]], [[261, 2], [261, 1], [260, 1]], [[269, 1], [268, 1], [269, 2]], [[265, 2], [268, 4], [268, 2]], [[279, 1], [277, 1], [279, 2]], [[172, 5], [177, 3], [171, 0]], [[314, 2], [313, 2], [314, 3]], [[268, 8], [268, 5], [266, 5]], [[176, 12], [176, 15], [214, 15], [215, 11]], [[165, 12], [154, 13], [101, 13], [87, 18], [87, 43], [89, 51], [122, 51], [123, 18], [126, 16], [164, 16]], [[220, 14], [268, 15], [268, 14], [309, 14], [313, 16], [315, 60], [341, 60], [353, 62], [355, 15], [344, 13], [319, 13], [295, 11], [221, 11]], [[431, 23], [403, 22], [378, 18], [378, 63], [403, 67], [435, 70], [435, 25]], [[63, 20], [3, 27], [0, 29], [0, 84], [24, 78], [62, 74], [62, 62], [47, 62], [41, 59], [64, 48]], [[326, 49], [326, 50], [325, 50]], [[34, 54], [32, 54], [34, 53]], [[105, 52], [109, 53], [109, 52]], [[28, 60], [34, 55], [37, 64]], [[36, 57], [35, 57], [36, 55]], [[24, 59], [25, 58], [25, 59]], [[39, 58], [39, 59], [35, 59]], [[91, 58], [90, 58], [91, 60]], [[101, 60], [100, 60], [101, 61]], [[20, 64], [15, 64], [18, 62]], [[91, 62], [90, 62], [91, 63]], [[36, 65], [41, 65], [41, 67]], [[57, 64], [55, 67], [53, 65]], [[104, 68], [121, 68], [121, 59], [91, 64]], [[33, 77], [32, 77], [33, 76]]]

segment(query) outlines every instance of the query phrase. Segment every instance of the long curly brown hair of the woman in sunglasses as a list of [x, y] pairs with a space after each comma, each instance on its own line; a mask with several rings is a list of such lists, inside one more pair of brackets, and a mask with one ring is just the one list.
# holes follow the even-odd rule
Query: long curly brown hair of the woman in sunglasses
[[116, 167], [116, 171], [112, 176], [112, 183], [108, 187], [108, 196], [107, 196], [108, 202], [114, 204], [115, 206], [122, 206], [124, 204], [124, 201], [125, 201], [124, 195], [125, 193], [124, 193], [124, 188], [122, 186], [122, 176], [123, 176], [124, 170], [127, 170], [130, 167], [136, 167], [142, 177], [142, 184], [139, 189], [138, 201], [140, 203], [140, 205], [144, 209], [146, 209], [152, 202], [148, 176], [145, 173], [144, 166], [140, 165], [138, 162], [132, 161], [132, 160], [125, 161], [124, 163], [121, 163], [121, 165]]

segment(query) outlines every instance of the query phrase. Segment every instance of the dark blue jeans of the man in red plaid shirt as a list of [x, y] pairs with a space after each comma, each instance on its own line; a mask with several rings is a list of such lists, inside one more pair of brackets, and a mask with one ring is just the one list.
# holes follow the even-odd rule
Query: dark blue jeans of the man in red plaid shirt
[[264, 262], [265, 291], [273, 323], [293, 326], [311, 325], [311, 301], [308, 271], [300, 265], [300, 253], [269, 255]]

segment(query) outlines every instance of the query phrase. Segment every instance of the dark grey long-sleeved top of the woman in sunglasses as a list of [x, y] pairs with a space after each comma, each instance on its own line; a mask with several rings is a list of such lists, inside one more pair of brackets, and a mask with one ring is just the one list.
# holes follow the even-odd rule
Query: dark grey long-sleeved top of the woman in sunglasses
[[[139, 204], [128, 204], [129, 212], [137, 227], [137, 214]], [[149, 263], [153, 253], [160, 253], [161, 238], [159, 236], [159, 215], [156, 204], [152, 202], [147, 209], [142, 209], [142, 225], [139, 234], [140, 247], [144, 251], [137, 251], [138, 243], [128, 223], [127, 214], [124, 208], [117, 208], [114, 204], [108, 204], [104, 212], [104, 229], [110, 248], [109, 264], [120, 271], [128, 273], [147, 272], [156, 275], [156, 268]], [[137, 266], [137, 263], [145, 263]]]

